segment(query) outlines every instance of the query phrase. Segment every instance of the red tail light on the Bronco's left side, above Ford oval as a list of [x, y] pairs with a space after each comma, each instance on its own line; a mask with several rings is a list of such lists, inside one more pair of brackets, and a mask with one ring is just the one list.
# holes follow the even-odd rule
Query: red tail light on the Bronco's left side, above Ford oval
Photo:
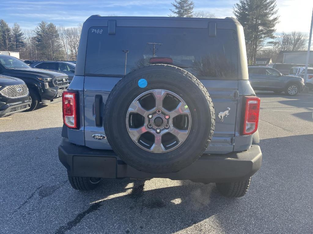
[[63, 122], [69, 128], [77, 128], [77, 113], [76, 113], [76, 93], [63, 92], [62, 96], [62, 110]]

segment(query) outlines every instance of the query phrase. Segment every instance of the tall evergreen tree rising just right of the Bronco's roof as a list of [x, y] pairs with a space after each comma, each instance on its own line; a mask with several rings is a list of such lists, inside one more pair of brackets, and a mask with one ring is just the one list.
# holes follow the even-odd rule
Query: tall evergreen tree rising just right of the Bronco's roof
[[255, 64], [256, 54], [264, 47], [265, 40], [274, 39], [279, 22], [276, 0], [240, 0], [233, 7], [233, 14], [244, 27], [249, 64]]

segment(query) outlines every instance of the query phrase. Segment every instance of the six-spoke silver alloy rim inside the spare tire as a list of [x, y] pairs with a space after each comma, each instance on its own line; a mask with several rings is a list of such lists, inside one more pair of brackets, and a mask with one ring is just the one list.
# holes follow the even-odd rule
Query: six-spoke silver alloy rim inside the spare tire
[[132, 101], [126, 126], [129, 136], [141, 149], [164, 153], [187, 139], [191, 113], [177, 94], [163, 89], [149, 90]]

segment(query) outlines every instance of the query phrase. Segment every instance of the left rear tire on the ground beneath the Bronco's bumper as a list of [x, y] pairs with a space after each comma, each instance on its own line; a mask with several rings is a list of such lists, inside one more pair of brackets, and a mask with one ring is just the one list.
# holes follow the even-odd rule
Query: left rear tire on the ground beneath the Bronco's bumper
[[98, 187], [101, 178], [95, 177], [77, 177], [77, 176], [70, 176], [67, 173], [69, 178], [69, 183], [71, 184], [72, 188], [81, 191], [90, 191]]

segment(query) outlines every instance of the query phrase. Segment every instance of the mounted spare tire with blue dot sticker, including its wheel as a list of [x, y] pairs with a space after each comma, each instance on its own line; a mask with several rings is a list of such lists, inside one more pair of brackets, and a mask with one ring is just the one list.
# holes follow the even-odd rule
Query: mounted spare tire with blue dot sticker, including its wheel
[[176, 66], [155, 64], [123, 77], [105, 104], [105, 134], [128, 165], [148, 173], [177, 172], [207, 149], [215, 126], [202, 83]]

